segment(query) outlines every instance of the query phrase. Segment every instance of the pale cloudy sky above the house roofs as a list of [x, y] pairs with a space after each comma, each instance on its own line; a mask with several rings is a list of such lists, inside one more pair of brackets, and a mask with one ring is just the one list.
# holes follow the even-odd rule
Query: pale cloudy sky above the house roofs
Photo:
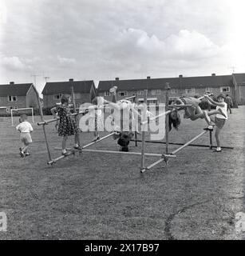
[[0, 84], [245, 73], [244, 10], [243, 0], [0, 0]]

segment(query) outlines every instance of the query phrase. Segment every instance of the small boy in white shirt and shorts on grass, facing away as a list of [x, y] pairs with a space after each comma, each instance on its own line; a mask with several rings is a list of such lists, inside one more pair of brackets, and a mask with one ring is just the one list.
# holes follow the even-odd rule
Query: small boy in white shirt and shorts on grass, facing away
[[16, 130], [18, 130], [21, 133], [21, 141], [22, 141], [22, 147], [20, 147], [20, 155], [22, 158], [25, 156], [30, 155], [28, 153], [28, 148], [32, 142], [30, 133], [34, 130], [31, 126], [30, 122], [27, 122], [27, 115], [22, 114], [20, 120], [20, 124], [16, 126]]

